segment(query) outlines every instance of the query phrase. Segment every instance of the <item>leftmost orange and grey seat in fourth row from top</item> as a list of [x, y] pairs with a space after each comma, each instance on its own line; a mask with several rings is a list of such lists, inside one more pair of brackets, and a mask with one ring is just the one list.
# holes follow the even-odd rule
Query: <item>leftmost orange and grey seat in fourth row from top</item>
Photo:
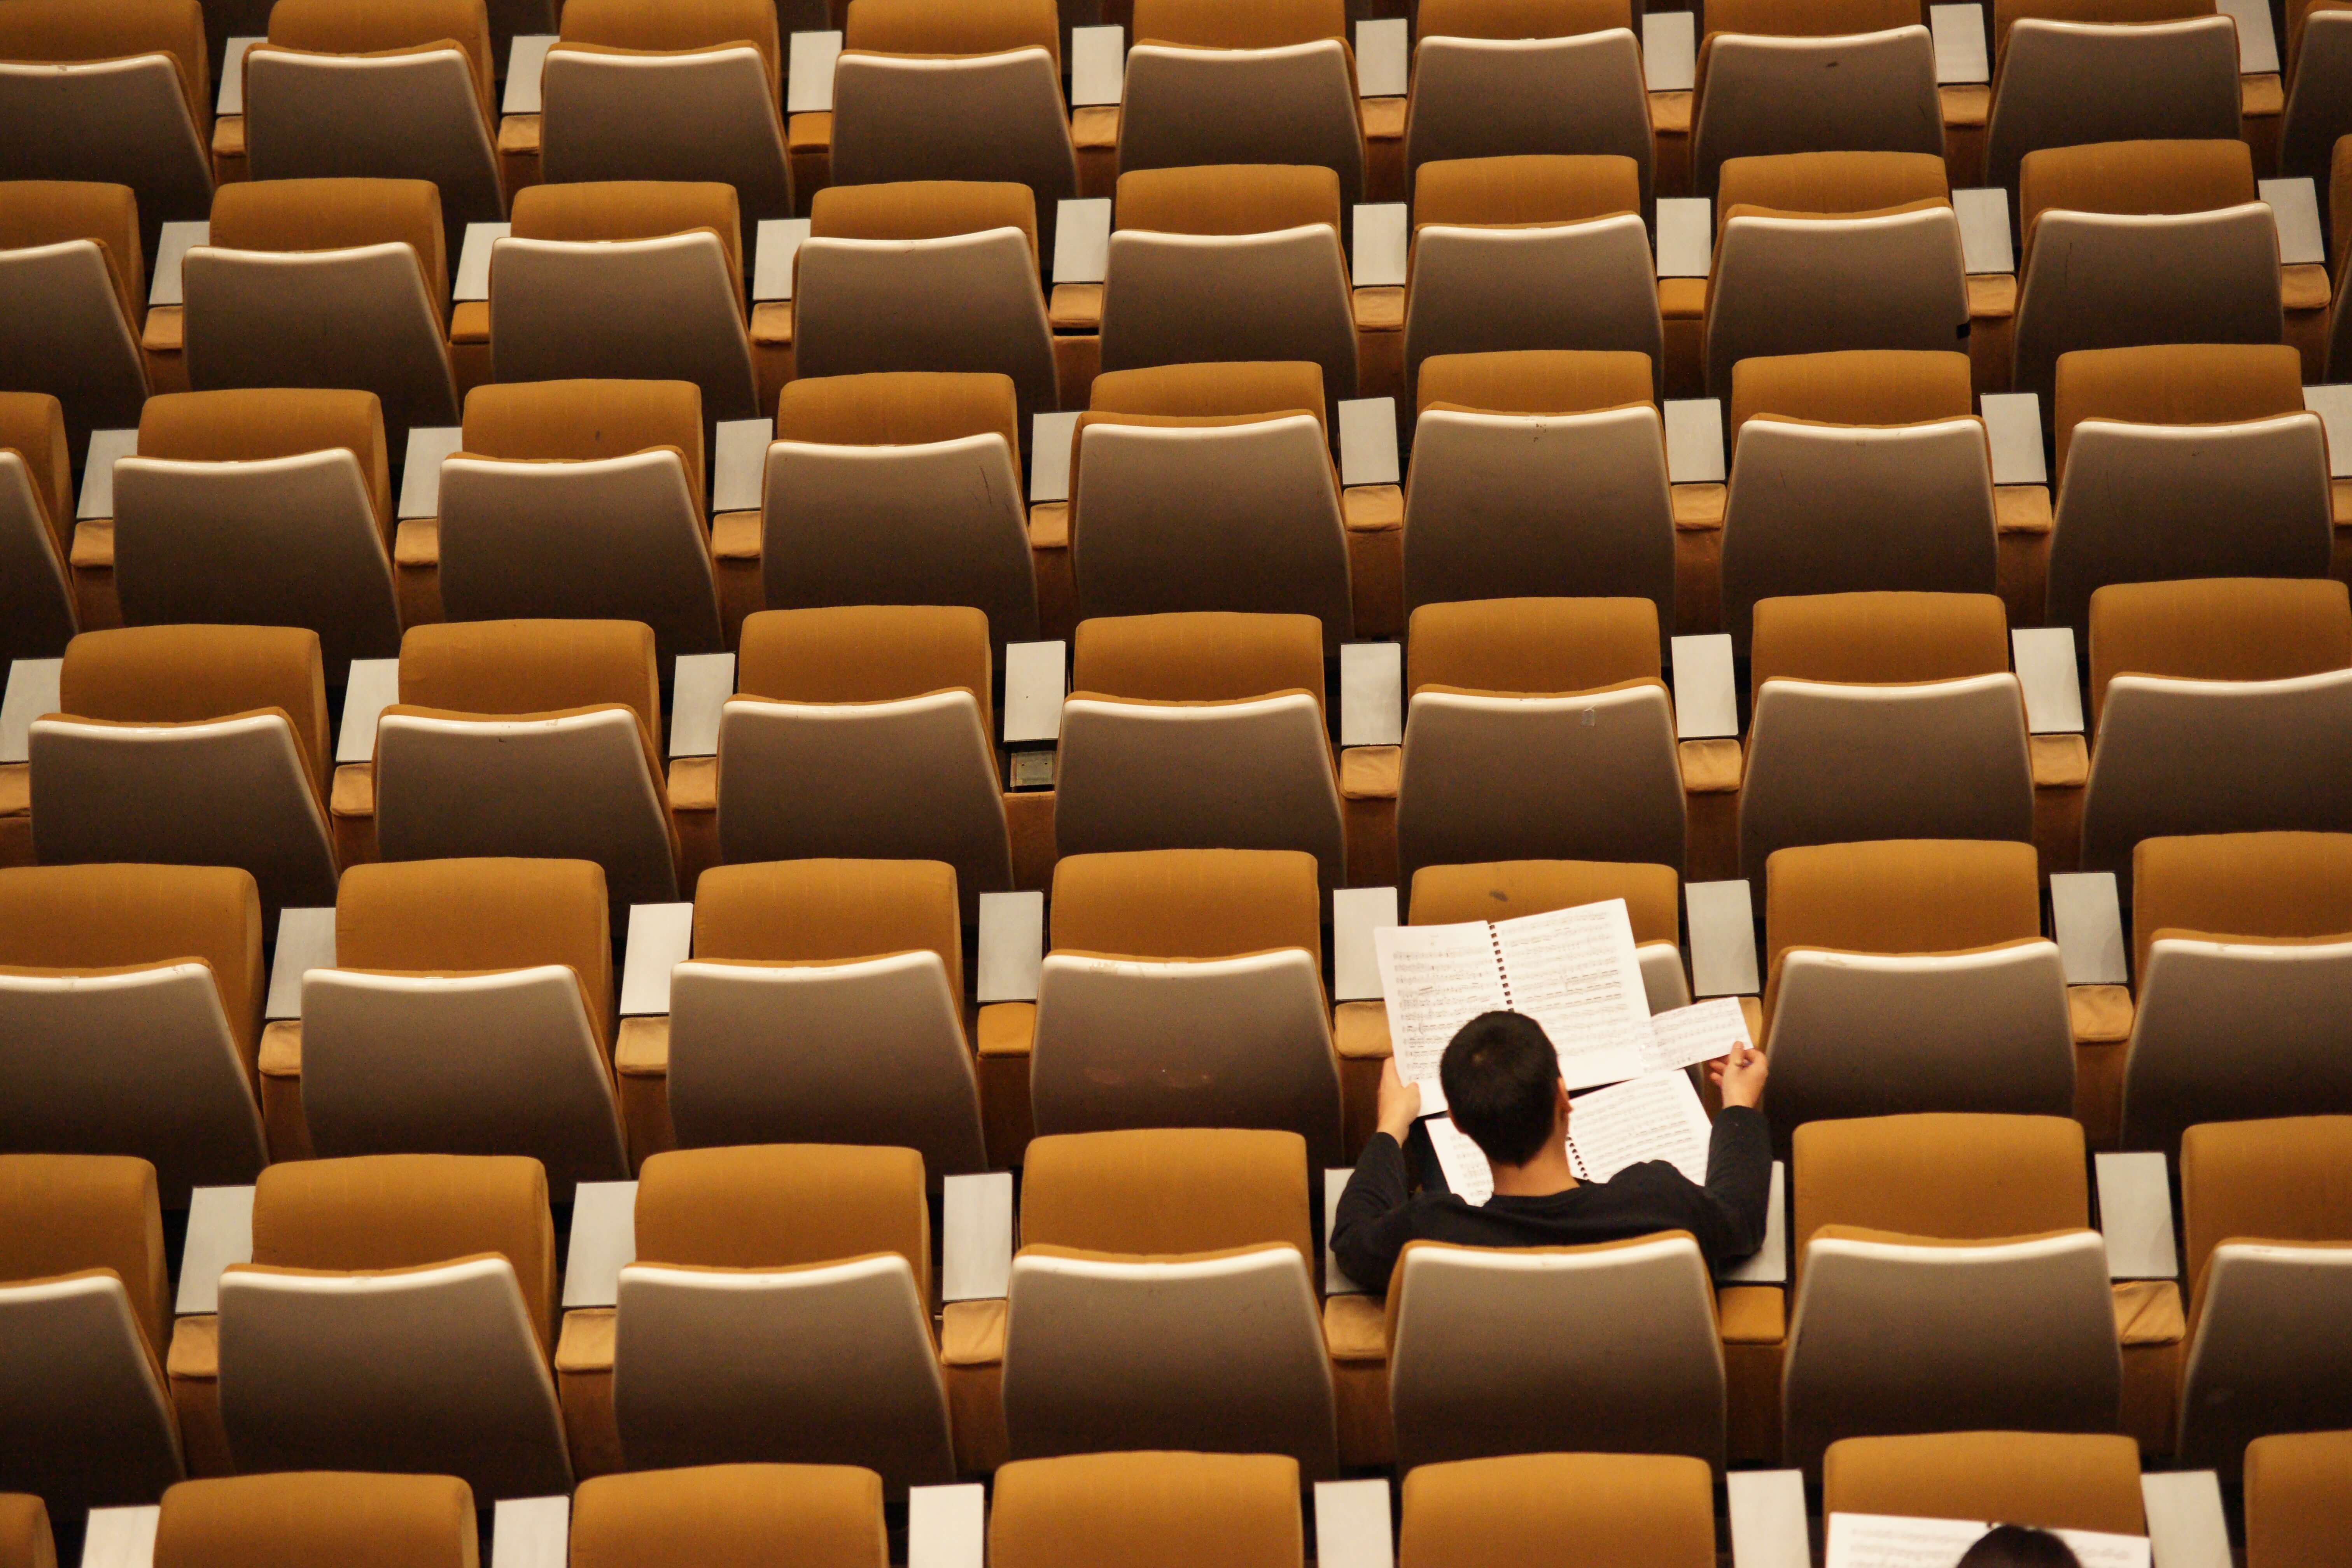
[[334, 903], [327, 679], [318, 632], [141, 625], [66, 644], [33, 722], [42, 865], [238, 865], [261, 912]]

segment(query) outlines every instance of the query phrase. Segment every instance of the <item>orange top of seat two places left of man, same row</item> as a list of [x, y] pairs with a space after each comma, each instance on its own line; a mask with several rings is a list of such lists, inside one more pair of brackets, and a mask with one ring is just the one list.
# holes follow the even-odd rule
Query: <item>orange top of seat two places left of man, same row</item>
[[637, 1260], [783, 1269], [898, 1253], [931, 1300], [922, 1154], [769, 1143], [654, 1154], [637, 1173]]

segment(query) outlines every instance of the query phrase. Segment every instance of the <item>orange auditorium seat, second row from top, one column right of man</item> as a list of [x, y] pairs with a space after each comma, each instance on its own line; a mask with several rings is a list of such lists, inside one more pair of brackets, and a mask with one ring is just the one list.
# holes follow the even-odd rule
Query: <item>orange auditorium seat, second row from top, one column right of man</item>
[[1715, 200], [1708, 390], [1752, 355], [1832, 348], [1950, 350], [1969, 289], [1943, 158], [1780, 153], [1733, 158]]

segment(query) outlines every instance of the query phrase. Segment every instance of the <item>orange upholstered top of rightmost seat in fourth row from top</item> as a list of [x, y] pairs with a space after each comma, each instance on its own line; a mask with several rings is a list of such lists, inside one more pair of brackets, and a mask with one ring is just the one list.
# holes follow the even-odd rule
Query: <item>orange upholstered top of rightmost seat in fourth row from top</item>
[[2328, 578], [2110, 583], [2091, 595], [2091, 726], [2117, 675], [2284, 679], [2352, 665], [2352, 597]]

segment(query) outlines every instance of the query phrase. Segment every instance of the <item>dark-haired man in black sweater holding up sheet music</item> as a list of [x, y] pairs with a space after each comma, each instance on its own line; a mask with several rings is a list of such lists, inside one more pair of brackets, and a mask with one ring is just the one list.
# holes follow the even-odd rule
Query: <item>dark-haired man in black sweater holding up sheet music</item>
[[1437, 1081], [1454, 1126], [1494, 1166], [1494, 1199], [1472, 1208], [1442, 1185], [1411, 1192], [1404, 1138], [1421, 1117], [1421, 1088], [1402, 1081], [1390, 1058], [1381, 1070], [1381, 1131], [1338, 1199], [1331, 1251], [1367, 1291], [1388, 1291], [1406, 1241], [1588, 1246], [1686, 1229], [1708, 1262], [1738, 1262], [1764, 1244], [1771, 1197], [1771, 1135], [1757, 1110], [1764, 1053], [1733, 1051], [1708, 1063], [1708, 1074], [1722, 1084], [1724, 1110], [1708, 1145], [1705, 1187], [1663, 1159], [1628, 1166], [1606, 1182], [1578, 1182], [1569, 1175], [1569, 1091], [1543, 1025], [1519, 1013], [1479, 1013], [1446, 1044]]

